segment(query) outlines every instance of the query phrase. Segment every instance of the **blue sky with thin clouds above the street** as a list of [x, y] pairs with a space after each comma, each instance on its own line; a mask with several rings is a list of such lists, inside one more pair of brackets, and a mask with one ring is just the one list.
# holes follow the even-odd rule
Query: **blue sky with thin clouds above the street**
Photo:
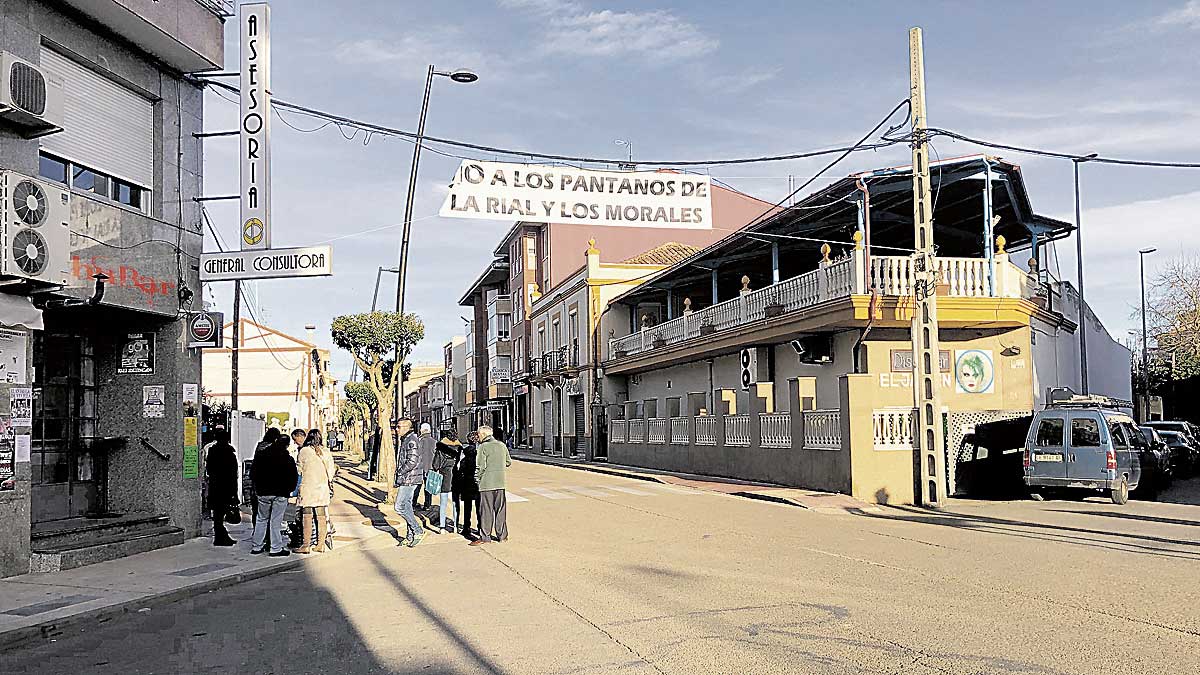
[[[1200, 0], [1165, 2], [619, 2], [589, 0], [276, 0], [276, 98], [415, 130], [426, 68], [467, 67], [480, 79], [436, 78], [426, 133], [542, 153], [714, 160], [852, 143], [907, 97], [910, 26], [924, 30], [929, 124], [977, 138], [1063, 153], [1200, 160]], [[226, 70], [238, 68], [236, 22]], [[236, 84], [236, 80], [229, 80]], [[264, 323], [294, 335], [368, 311], [379, 267], [394, 267], [412, 145], [282, 113], [272, 126], [274, 245], [332, 241], [332, 277], [248, 285]], [[238, 107], [211, 89], [208, 131], [236, 129]], [[949, 157], [977, 147], [938, 139]], [[205, 141], [205, 193], [238, 191], [235, 137]], [[1069, 161], [994, 154], [1024, 169], [1037, 213], [1074, 221]], [[500, 159], [476, 155], [480, 159]], [[906, 147], [859, 153], [841, 175], [905, 165]], [[778, 201], [788, 175], [828, 160], [714, 168], [755, 197]], [[461, 334], [457, 300], [510, 223], [440, 219], [458, 160], [422, 153], [414, 199], [406, 310], [425, 322], [410, 360], [439, 363]], [[1085, 291], [1114, 338], [1135, 325], [1138, 249], [1157, 246], [1147, 275], [1195, 255], [1200, 169], [1084, 165]], [[210, 202], [228, 244], [236, 202]], [[208, 250], [215, 250], [211, 239]], [[1074, 240], [1057, 247], [1074, 279]], [[395, 303], [384, 275], [380, 307]], [[205, 298], [232, 311], [233, 285]], [[334, 350], [335, 376], [352, 362]]]

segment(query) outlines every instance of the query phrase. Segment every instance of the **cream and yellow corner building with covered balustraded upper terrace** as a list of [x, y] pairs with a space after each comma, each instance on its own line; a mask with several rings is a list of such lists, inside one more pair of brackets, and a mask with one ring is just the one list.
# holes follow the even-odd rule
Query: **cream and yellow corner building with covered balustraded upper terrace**
[[[1078, 390], [1078, 294], [1042, 261], [1068, 223], [1019, 167], [937, 166], [941, 401], [953, 494], [974, 424]], [[913, 501], [912, 175], [842, 179], [617, 298], [602, 315], [620, 464]], [[1128, 400], [1129, 353], [1087, 322], [1091, 392]]]

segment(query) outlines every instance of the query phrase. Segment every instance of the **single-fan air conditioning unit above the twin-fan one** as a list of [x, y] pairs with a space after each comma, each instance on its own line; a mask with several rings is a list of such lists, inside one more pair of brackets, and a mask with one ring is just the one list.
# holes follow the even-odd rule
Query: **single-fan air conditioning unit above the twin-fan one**
[[25, 138], [62, 131], [62, 78], [0, 52], [0, 123]]

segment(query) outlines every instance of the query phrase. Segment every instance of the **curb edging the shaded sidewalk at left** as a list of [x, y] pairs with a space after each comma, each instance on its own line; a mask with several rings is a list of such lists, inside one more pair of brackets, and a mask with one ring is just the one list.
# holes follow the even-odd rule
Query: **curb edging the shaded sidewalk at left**
[[80, 623], [101, 623], [109, 621], [116, 616], [122, 616], [142, 608], [157, 608], [168, 605], [181, 599], [199, 596], [211, 591], [217, 591], [220, 589], [226, 589], [229, 586], [236, 586], [246, 581], [253, 581], [256, 579], [262, 579], [264, 577], [270, 577], [272, 574], [278, 574], [281, 572], [288, 572], [301, 567], [307, 560], [322, 560], [340, 555], [346, 551], [356, 550], [361, 548], [371, 537], [365, 539], [359, 539], [358, 542], [347, 542], [341, 546], [329, 551], [328, 554], [316, 557], [306, 558], [295, 555], [294, 558], [286, 562], [278, 563], [272, 567], [263, 567], [259, 569], [250, 569], [246, 572], [239, 572], [229, 577], [222, 577], [218, 579], [209, 579], [206, 581], [199, 581], [190, 586], [182, 586], [179, 589], [170, 589], [168, 591], [161, 591], [140, 598], [133, 598], [131, 601], [125, 601], [118, 604], [110, 604], [79, 614], [73, 614], [71, 616], [64, 616], [61, 619], [55, 619], [53, 621], [47, 621], [44, 623], [37, 623], [34, 626], [24, 626], [20, 628], [12, 628], [0, 633], [0, 653], [17, 649], [31, 646], [36, 640], [49, 640], [58, 638], [62, 634], [66, 628], [79, 626]]

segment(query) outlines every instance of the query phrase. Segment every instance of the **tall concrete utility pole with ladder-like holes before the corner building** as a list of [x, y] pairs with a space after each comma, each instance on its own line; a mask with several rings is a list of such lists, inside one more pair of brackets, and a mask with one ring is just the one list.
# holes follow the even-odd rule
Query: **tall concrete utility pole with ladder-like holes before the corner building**
[[908, 30], [908, 78], [912, 113], [913, 287], [912, 389], [914, 495], [922, 506], [942, 503], [946, 458], [942, 453], [942, 369], [937, 340], [937, 264], [934, 205], [929, 185], [929, 138], [925, 119], [925, 56], [919, 28]]

